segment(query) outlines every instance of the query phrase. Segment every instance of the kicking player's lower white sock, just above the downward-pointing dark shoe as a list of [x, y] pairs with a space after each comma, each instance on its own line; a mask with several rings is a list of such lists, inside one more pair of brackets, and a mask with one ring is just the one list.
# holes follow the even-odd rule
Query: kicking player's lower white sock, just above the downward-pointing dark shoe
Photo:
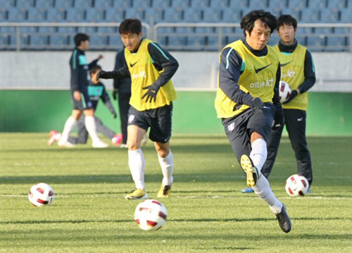
[[278, 214], [282, 209], [282, 203], [275, 197], [274, 193], [270, 188], [268, 179], [265, 176], [261, 175], [256, 183], [256, 186], [252, 187], [256, 195], [263, 199], [266, 203], [269, 204], [271, 211], [274, 214]]

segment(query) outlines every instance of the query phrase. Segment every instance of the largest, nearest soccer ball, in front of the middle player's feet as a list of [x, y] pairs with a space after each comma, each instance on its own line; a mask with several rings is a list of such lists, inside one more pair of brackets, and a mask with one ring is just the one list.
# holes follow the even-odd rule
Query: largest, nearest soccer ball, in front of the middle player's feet
[[158, 230], [165, 225], [168, 211], [158, 200], [147, 199], [137, 205], [134, 211], [134, 221], [142, 230]]

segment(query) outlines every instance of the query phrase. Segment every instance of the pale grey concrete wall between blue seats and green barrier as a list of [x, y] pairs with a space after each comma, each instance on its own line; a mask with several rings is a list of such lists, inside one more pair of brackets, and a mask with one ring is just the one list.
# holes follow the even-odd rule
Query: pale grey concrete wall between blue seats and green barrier
[[[218, 52], [171, 52], [180, 63], [175, 77], [175, 87], [195, 90], [214, 90], [217, 86]], [[28, 89], [68, 89], [70, 52], [65, 51], [20, 51], [1, 52], [0, 90], [25, 87]], [[104, 58], [99, 64], [104, 70], [113, 70], [115, 52], [87, 51], [87, 60], [99, 54]], [[352, 92], [352, 54], [346, 52], [313, 52], [318, 82], [315, 92]], [[112, 87], [112, 81], [104, 81]]]

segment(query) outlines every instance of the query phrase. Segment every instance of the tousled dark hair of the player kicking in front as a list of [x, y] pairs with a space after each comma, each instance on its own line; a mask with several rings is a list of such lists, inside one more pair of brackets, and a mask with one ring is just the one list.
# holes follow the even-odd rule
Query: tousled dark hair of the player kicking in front
[[274, 32], [274, 30], [277, 27], [277, 18], [274, 15], [272, 15], [272, 13], [270, 13], [269, 11], [255, 10], [247, 13], [239, 23], [241, 25], [241, 28], [244, 30], [244, 36], [246, 36], [246, 30], [248, 30], [249, 35], [251, 35], [251, 32], [253, 31], [254, 23], [258, 19], [260, 19], [267, 27], [270, 28], [271, 30], [270, 34]]

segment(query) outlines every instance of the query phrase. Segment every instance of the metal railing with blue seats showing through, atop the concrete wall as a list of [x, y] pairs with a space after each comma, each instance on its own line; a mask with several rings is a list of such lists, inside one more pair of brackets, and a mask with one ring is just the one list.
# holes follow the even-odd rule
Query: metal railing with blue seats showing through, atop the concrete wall
[[[91, 36], [91, 50], [114, 51], [122, 46], [120, 23], [0, 23], [2, 50], [71, 50], [77, 32]], [[232, 23], [142, 23], [146, 37], [173, 51], [220, 51], [244, 37], [239, 24]], [[300, 23], [298, 42], [311, 51], [352, 52], [352, 24]], [[37, 39], [37, 41], [34, 41]], [[276, 44], [272, 34], [269, 44]], [[42, 43], [41, 43], [42, 42]]]

